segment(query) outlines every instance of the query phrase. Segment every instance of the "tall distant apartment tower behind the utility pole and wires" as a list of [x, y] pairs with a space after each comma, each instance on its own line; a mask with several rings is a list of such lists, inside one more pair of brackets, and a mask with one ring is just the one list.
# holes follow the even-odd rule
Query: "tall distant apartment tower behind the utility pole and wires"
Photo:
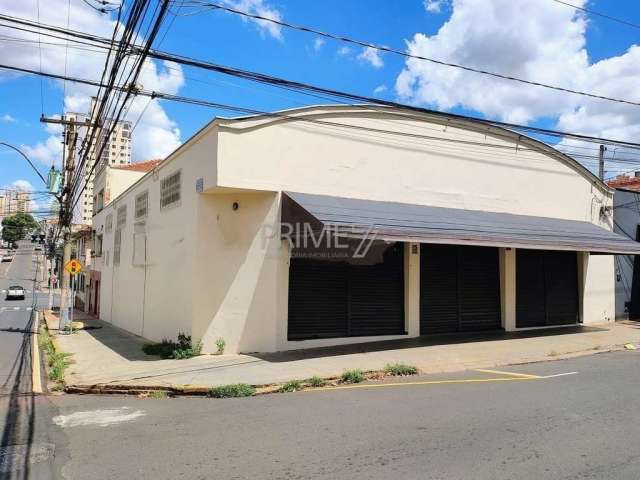
[[[94, 110], [95, 101], [95, 98], [92, 98], [88, 113], [68, 113], [65, 116], [70, 120], [87, 122], [87, 125], [78, 128], [78, 149], [82, 148], [83, 142], [91, 132], [88, 119]], [[108, 119], [104, 122], [96, 138], [92, 141], [87, 161], [82, 166], [82, 176], [79, 178], [82, 178], [83, 183], [86, 183], [86, 188], [84, 192], [82, 192], [82, 197], [78, 201], [74, 212], [74, 223], [84, 225], [91, 224], [91, 217], [93, 217], [94, 213], [94, 181], [97, 173], [102, 170], [105, 165], [128, 165], [131, 163], [131, 122], [117, 122], [113, 128], [113, 132], [107, 137], [112, 126], [112, 120]], [[98, 158], [98, 155], [100, 158]]]

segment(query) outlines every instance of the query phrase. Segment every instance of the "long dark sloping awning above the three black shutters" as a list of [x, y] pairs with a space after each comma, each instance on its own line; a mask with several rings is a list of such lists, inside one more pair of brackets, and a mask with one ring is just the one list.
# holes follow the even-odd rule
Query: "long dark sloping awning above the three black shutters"
[[282, 221], [386, 241], [640, 254], [640, 243], [590, 222], [307, 193], [284, 192]]

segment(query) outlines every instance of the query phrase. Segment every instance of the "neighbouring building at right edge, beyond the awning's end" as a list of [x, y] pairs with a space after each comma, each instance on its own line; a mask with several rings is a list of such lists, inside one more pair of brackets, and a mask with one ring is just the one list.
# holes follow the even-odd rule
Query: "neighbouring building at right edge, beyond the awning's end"
[[[640, 240], [640, 172], [637, 176], [620, 175], [607, 182], [613, 195], [613, 230], [633, 240]], [[616, 319], [640, 319], [640, 258], [615, 256]]]

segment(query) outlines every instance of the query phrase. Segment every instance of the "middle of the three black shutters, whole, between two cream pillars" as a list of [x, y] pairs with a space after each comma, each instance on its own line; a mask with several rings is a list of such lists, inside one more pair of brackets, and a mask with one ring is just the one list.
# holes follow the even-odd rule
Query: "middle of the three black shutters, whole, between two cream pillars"
[[499, 329], [498, 249], [425, 245], [420, 255], [420, 332]]

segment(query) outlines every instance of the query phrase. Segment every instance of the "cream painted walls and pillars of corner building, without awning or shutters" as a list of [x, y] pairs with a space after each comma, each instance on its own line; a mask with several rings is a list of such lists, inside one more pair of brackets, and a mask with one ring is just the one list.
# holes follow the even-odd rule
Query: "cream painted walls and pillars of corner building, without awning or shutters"
[[[178, 170], [180, 202], [160, 209], [161, 180]], [[94, 217], [103, 251], [113, 250], [104, 220], [127, 205], [120, 265], [106, 264], [112, 253], [96, 261], [101, 318], [152, 340], [189, 332], [205, 351], [214, 351], [218, 338], [228, 352], [387, 338], [287, 340], [290, 257], [274, 234], [283, 191], [579, 220], [611, 230], [602, 213], [612, 205], [610, 189], [552, 148], [500, 128], [377, 107], [217, 119]], [[149, 210], [136, 225], [142, 192]], [[419, 334], [415, 257], [405, 256], [407, 335], [392, 338]], [[513, 250], [501, 249], [500, 258], [503, 327], [512, 330], [517, 266]], [[581, 321], [611, 321], [613, 257], [580, 252], [578, 259]]]

